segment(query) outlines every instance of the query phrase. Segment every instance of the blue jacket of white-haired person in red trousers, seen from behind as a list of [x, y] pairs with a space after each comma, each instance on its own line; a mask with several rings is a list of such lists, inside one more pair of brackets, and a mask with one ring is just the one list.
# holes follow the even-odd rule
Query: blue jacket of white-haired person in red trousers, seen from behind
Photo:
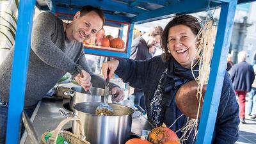
[[254, 81], [254, 70], [252, 65], [242, 61], [234, 65], [230, 70], [234, 89], [237, 91], [250, 92]]

